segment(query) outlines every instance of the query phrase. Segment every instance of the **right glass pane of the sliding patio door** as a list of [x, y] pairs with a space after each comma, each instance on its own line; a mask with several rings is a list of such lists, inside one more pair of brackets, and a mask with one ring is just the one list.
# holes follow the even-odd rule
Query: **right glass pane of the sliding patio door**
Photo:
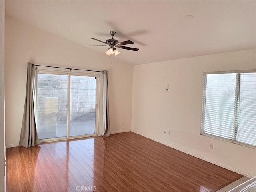
[[95, 133], [96, 81], [94, 77], [70, 77], [70, 136]]

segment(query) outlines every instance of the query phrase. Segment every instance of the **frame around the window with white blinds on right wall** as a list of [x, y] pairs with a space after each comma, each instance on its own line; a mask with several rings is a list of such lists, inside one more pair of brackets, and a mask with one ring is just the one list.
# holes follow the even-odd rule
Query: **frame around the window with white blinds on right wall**
[[[251, 144], [246, 144], [244, 142], [240, 142], [238, 140], [234, 140], [234, 139], [229, 139], [229, 138], [224, 138], [221, 136], [217, 136], [217, 135], [213, 135], [213, 134], [209, 134], [204, 132], [204, 117], [205, 117], [205, 104], [206, 104], [206, 88], [207, 88], [207, 75], [208, 74], [227, 74], [227, 73], [255, 73], [256, 69], [253, 70], [234, 70], [234, 71], [215, 71], [215, 72], [204, 72], [203, 73], [203, 82], [202, 82], [202, 106], [201, 106], [201, 122], [200, 122], [200, 135], [204, 135], [204, 136], [208, 136], [210, 138], [215, 138], [218, 140], [222, 140], [222, 141], [226, 141], [226, 142], [231, 142], [234, 144], [238, 144], [238, 145], [242, 145], [242, 146], [246, 146], [249, 148], [253, 148], [256, 149], [256, 146], [251, 145]], [[240, 78], [238, 80], [238, 84], [240, 87]], [[237, 95], [237, 92], [236, 92]], [[235, 99], [235, 103], [237, 103], [237, 97]], [[234, 124], [235, 124], [236, 119], [234, 119]], [[237, 129], [236, 126], [233, 127], [233, 130]], [[234, 137], [236, 138], [236, 136]]]

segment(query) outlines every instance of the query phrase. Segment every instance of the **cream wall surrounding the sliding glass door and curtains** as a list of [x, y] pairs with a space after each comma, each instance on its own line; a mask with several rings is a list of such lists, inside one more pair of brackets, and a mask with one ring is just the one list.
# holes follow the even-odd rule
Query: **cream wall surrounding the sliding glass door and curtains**
[[[111, 132], [131, 130], [133, 66], [6, 16], [6, 147], [17, 146], [24, 110], [27, 62], [108, 70]], [[122, 122], [125, 122], [122, 125]]]

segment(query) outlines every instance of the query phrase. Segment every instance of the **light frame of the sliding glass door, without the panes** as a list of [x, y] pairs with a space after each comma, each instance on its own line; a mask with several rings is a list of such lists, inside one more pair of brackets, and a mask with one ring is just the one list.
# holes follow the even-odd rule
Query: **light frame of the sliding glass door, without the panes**
[[[36, 106], [38, 105], [38, 74], [54, 74], [54, 75], [67, 75], [68, 76], [68, 107], [67, 107], [67, 136], [66, 137], [58, 137], [58, 138], [47, 138], [40, 139], [40, 142], [52, 142], [52, 141], [61, 141], [61, 140], [69, 140], [75, 138], [84, 138], [97, 136], [99, 131], [99, 103], [100, 103], [100, 78], [101, 72], [70, 72], [68, 70], [48, 70], [45, 68], [35, 67], [35, 79], [36, 79]], [[96, 111], [95, 111], [95, 132], [94, 134], [86, 134], [79, 136], [70, 136], [70, 92], [71, 92], [71, 76], [88, 76], [88, 77], [96, 77]]]

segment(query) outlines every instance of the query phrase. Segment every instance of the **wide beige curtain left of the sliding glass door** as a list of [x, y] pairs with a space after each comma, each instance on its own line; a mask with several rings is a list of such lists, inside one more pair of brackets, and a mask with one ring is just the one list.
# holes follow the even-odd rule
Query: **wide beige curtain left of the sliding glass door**
[[28, 63], [26, 99], [20, 132], [20, 147], [32, 147], [40, 144], [36, 130], [36, 86], [32, 64]]

